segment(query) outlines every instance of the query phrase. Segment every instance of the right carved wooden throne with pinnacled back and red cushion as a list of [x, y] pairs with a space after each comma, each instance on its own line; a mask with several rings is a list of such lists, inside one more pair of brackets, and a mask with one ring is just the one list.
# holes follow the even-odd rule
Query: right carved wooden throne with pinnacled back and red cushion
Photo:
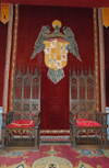
[[96, 111], [95, 72], [70, 72], [70, 141], [74, 148], [107, 147], [107, 114]]

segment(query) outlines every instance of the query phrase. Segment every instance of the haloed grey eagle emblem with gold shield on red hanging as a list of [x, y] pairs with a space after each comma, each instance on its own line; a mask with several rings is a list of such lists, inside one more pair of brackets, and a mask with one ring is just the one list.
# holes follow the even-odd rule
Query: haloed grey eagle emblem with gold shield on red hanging
[[34, 58], [43, 49], [45, 52], [45, 64], [49, 68], [48, 78], [57, 83], [64, 77], [63, 68], [68, 63], [68, 53], [72, 53], [81, 60], [77, 44], [74, 34], [70, 27], [63, 27], [63, 34], [60, 32], [61, 22], [52, 22], [55, 31], [50, 32], [50, 26], [43, 26], [36, 40], [34, 52], [31, 57]]

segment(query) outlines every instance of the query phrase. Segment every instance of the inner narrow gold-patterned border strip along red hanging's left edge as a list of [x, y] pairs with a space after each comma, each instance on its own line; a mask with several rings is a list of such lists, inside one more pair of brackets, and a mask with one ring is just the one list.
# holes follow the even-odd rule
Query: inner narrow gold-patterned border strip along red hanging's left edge
[[17, 27], [19, 27], [19, 4], [15, 4], [15, 23], [14, 23], [14, 35], [13, 35], [10, 103], [9, 103], [9, 110], [10, 111], [13, 110], [13, 87], [14, 87], [14, 74], [15, 74], [15, 63], [16, 63], [16, 48], [17, 48]]

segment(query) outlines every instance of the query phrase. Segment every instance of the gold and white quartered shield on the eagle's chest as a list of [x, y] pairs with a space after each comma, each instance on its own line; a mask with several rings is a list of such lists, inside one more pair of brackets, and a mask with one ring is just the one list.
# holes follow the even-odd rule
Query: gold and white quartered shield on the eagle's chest
[[61, 38], [51, 38], [45, 44], [45, 64], [48, 68], [58, 70], [64, 68], [68, 63], [68, 44]]

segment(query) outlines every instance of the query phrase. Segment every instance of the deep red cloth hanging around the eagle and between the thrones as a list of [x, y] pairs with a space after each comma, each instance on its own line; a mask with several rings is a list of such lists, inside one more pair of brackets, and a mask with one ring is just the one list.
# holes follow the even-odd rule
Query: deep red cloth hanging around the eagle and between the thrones
[[[60, 20], [63, 26], [70, 26], [75, 35], [82, 61], [73, 54], [68, 55], [68, 66], [63, 69], [65, 77], [57, 85], [47, 77], [44, 52], [31, 59], [35, 41], [43, 25]], [[93, 9], [62, 7], [20, 7], [17, 32], [16, 65], [41, 68], [41, 128], [69, 128], [69, 70], [88, 70], [94, 67], [94, 30]], [[53, 31], [51, 26], [51, 31]], [[61, 29], [61, 32], [63, 30]]]

